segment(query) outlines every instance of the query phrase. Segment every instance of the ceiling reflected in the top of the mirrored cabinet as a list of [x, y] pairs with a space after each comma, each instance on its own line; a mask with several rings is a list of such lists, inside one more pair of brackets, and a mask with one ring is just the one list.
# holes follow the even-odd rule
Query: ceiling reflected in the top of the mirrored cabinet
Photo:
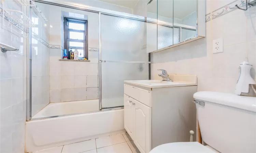
[[[147, 12], [156, 14], [156, 7], [157, 0], [153, 0], [150, 4], [147, 5]], [[158, 0], [158, 15], [168, 18], [174, 17], [182, 19], [185, 16], [195, 12], [196, 9], [196, 0]]]

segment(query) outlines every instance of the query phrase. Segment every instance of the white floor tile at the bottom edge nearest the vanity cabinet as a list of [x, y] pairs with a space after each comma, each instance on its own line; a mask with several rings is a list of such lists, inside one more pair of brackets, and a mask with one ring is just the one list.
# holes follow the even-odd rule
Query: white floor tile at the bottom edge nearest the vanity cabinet
[[97, 149], [98, 153], [132, 153], [127, 142]]

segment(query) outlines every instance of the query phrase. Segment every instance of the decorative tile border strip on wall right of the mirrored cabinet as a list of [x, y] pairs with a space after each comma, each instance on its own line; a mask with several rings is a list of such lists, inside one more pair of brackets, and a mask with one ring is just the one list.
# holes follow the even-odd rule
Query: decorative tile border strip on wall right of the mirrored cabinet
[[[238, 4], [238, 2], [240, 4]], [[215, 18], [217, 18], [219, 16], [222, 16], [224, 14], [227, 14], [227, 13], [229, 13], [231, 11], [236, 10], [237, 9], [237, 6], [235, 6], [236, 4], [238, 4], [239, 7], [243, 7], [243, 6], [246, 5], [245, 1], [243, 1], [243, 0], [242, 1], [240, 1], [240, 0], [233, 1], [233, 2], [231, 2], [229, 4], [227, 4], [227, 5], [225, 5], [225, 6], [221, 7], [221, 8], [218, 8], [217, 10], [215, 10], [215, 11], [205, 15], [205, 22], [208, 22], [211, 19], [215, 19]]]

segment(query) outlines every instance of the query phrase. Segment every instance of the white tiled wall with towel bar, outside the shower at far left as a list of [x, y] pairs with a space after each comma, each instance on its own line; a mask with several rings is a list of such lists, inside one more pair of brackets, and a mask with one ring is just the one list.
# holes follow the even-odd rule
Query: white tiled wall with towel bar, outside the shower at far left
[[[5, 9], [22, 11], [14, 1], [5, 1]], [[25, 11], [25, 10], [24, 10]], [[0, 51], [0, 152], [24, 153], [26, 121], [26, 38], [13, 24], [3, 26], [0, 20], [0, 42], [19, 51]], [[4, 20], [4, 24], [9, 22]], [[13, 33], [12, 33], [13, 32]]]

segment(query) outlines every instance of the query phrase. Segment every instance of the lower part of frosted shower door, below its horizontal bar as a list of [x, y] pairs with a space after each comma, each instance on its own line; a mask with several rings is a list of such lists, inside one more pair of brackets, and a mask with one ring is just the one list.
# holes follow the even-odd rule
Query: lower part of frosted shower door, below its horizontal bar
[[101, 63], [102, 108], [124, 106], [125, 80], [148, 80], [148, 64]]

